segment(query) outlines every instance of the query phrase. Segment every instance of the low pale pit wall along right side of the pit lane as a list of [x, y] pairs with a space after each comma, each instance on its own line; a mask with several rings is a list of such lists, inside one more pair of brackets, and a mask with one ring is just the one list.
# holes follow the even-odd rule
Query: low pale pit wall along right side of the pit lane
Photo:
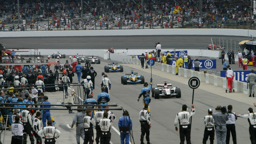
[[[140, 60], [137, 58], [134, 58], [134, 63], [133, 64], [140, 64]], [[163, 63], [155, 63], [152, 68], [166, 71], [167, 73], [171, 74], [176, 74], [176, 66], [172, 65], [167, 65]], [[226, 77], [220, 77], [216, 75], [211, 75], [211, 74], [205, 74], [203, 71], [194, 71], [194, 70], [189, 70], [189, 69], [184, 69], [179, 67], [179, 76], [191, 78], [191, 77], [197, 77], [201, 82], [209, 83], [214, 86], [219, 86], [226, 88], [227, 87], [227, 79]], [[241, 82], [237, 80], [233, 80], [233, 85], [234, 85], [234, 90], [235, 92], [241, 92], [244, 94], [248, 94], [248, 89], [247, 89], [247, 83], [246, 82]], [[256, 88], [255, 88], [256, 89]]]

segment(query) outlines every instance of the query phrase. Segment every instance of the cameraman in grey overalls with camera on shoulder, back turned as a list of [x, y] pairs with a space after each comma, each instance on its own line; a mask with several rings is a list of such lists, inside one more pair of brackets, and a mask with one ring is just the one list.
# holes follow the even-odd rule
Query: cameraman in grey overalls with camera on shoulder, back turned
[[226, 121], [229, 120], [226, 107], [218, 105], [216, 107], [216, 112], [212, 114], [212, 117], [215, 122], [217, 143], [226, 143]]

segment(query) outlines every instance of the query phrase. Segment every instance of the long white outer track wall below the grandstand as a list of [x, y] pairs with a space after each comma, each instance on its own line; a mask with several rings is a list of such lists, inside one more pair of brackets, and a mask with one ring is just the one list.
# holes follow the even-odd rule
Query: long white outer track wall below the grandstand
[[[249, 30], [249, 35], [255, 35]], [[1, 37], [63, 37], [63, 36], [106, 36], [106, 35], [234, 35], [248, 36], [247, 29], [134, 29], [134, 30], [80, 30], [80, 31], [16, 31], [1, 32]]]

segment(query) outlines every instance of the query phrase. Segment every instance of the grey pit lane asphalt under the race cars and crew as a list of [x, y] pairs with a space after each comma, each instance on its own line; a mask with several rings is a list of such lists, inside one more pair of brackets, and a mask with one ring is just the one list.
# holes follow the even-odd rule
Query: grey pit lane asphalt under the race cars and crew
[[[67, 58], [66, 58], [67, 59]], [[66, 59], [60, 59], [61, 63], [65, 62]], [[53, 62], [54, 59], [51, 59], [50, 62]], [[101, 83], [101, 73], [104, 71], [104, 65], [107, 65], [111, 60], [103, 60], [101, 59], [101, 64], [93, 64], [94, 70], [98, 73], [95, 77], [95, 89], [93, 91], [94, 98], [97, 99], [98, 93], [100, 90]], [[83, 65], [84, 63], [82, 63]], [[121, 64], [121, 63], [119, 63]], [[121, 64], [124, 67], [124, 72], [120, 73], [107, 73], [108, 78], [111, 81], [112, 87], [110, 90], [110, 102], [108, 104], [116, 103], [121, 105], [124, 109], [129, 111], [130, 117], [133, 122], [133, 144], [140, 143], [140, 123], [138, 120], [139, 111], [142, 110], [142, 98], [139, 102], [137, 102], [137, 98], [143, 85], [122, 85], [121, 84], [121, 76], [124, 76], [125, 73], [130, 72], [130, 70], [134, 70], [138, 72], [139, 75], [143, 75], [145, 77], [145, 81], [149, 82], [150, 80], [150, 69], [141, 69], [140, 65], [134, 64]], [[51, 67], [53, 69], [53, 66]], [[172, 83], [172, 86], [181, 88], [181, 98], [170, 98], [170, 99], [154, 99], [151, 97], [150, 110], [151, 116], [150, 121], [152, 123], [152, 128], [150, 129], [150, 143], [179, 143], [179, 132], [175, 131], [174, 128], [174, 119], [178, 112], [181, 111], [181, 107], [183, 104], [187, 104], [191, 108], [191, 100], [192, 100], [192, 89], [187, 85], [188, 78], [184, 78], [181, 76], [175, 76], [170, 73], [166, 73], [163, 71], [159, 71], [156, 69], [152, 69], [152, 78], [153, 78], [153, 86], [156, 87], [156, 84], [163, 83], [163, 81], [168, 81], [168, 83]], [[77, 81], [77, 75], [73, 77], [73, 82]], [[79, 91], [77, 86], [73, 87], [76, 92]], [[82, 87], [81, 87], [82, 91]], [[80, 91], [79, 91], [80, 94]], [[63, 94], [61, 92], [53, 92], [46, 93], [49, 97], [49, 101], [52, 104], [56, 104], [56, 100], [63, 101]], [[237, 99], [235, 99], [237, 98]], [[243, 101], [239, 100], [241, 98]], [[233, 105], [233, 111], [237, 114], [246, 114], [248, 107], [252, 107], [252, 101], [255, 101], [255, 98], [249, 98], [247, 95], [242, 93], [225, 93], [224, 88], [220, 88], [217, 86], [213, 86], [210, 84], [201, 83], [200, 87], [195, 90], [194, 94], [194, 105], [196, 114], [193, 116], [192, 120], [192, 128], [191, 128], [191, 142], [193, 144], [202, 143], [203, 131], [205, 128], [203, 118], [206, 116], [208, 109], [213, 109], [217, 105], [227, 106], [229, 104]], [[66, 103], [66, 99], [65, 99]], [[253, 107], [254, 108], [254, 107]], [[75, 111], [74, 111], [75, 112]], [[122, 116], [122, 111], [113, 111], [116, 116], [116, 120], [113, 122], [113, 126], [117, 131], [118, 129], [118, 120], [119, 117]], [[53, 111], [51, 110], [51, 115], [54, 117], [56, 121], [55, 127], [61, 131], [61, 136], [57, 139], [58, 144], [62, 143], [72, 143], [76, 144], [75, 139], [75, 129], [71, 129], [72, 118], [74, 114], [68, 114], [68, 110], [66, 111]], [[33, 116], [34, 117], [34, 116]], [[238, 118], [236, 121], [236, 134], [237, 134], [237, 143], [250, 143], [249, 140], [249, 132], [248, 132], [248, 121], [247, 119]], [[111, 142], [113, 144], [120, 143], [120, 136], [117, 131], [111, 129]], [[95, 131], [95, 130], [94, 130]], [[96, 137], [96, 135], [94, 135]], [[1, 139], [2, 140], [2, 139]], [[29, 141], [29, 139], [28, 139]], [[232, 141], [232, 138], [231, 138]], [[10, 143], [10, 131], [7, 131], [5, 142]], [[81, 139], [80, 143], [83, 140]], [[146, 143], [145, 137], [144, 142]], [[216, 137], [214, 142], [216, 143]], [[96, 143], [96, 142], [94, 142]], [[232, 143], [232, 142], [230, 142]]]

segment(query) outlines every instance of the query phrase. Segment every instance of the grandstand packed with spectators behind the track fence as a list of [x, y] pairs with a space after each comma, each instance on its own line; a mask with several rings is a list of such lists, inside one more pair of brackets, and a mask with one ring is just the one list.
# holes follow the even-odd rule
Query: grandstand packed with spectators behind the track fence
[[[19, 0], [19, 7], [17, 1], [0, 0], [0, 23], [4, 23], [5, 31], [10, 27], [13, 31], [20, 31], [21, 27], [25, 31], [141, 29], [143, 26], [144, 28], [256, 28], [254, 15], [251, 15], [251, 1], [243, 0], [202, 0], [201, 13], [199, 1], [144, 0], [143, 16], [139, 0], [113, 0], [113, 3], [89, 0], [83, 4], [80, 0], [64, 0], [63, 4], [60, 0]], [[182, 10], [173, 13], [177, 5]], [[143, 18], [144, 24], [142, 24]]]

